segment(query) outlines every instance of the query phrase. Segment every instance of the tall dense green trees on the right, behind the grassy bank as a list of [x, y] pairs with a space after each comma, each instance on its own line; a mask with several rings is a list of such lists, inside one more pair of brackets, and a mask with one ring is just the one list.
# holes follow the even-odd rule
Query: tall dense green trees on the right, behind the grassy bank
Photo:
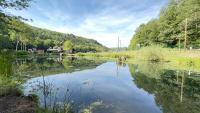
[[129, 48], [137, 44], [200, 48], [200, 0], [170, 0], [158, 19], [137, 28]]

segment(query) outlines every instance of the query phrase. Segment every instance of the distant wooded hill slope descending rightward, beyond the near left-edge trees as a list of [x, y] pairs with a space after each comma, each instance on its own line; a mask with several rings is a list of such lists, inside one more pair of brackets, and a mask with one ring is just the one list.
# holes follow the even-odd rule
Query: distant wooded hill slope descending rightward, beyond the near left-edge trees
[[73, 34], [65, 34], [55, 32], [47, 29], [41, 29], [33, 26], [30, 27], [30, 37], [33, 38], [32, 46], [38, 48], [49, 48], [54, 46], [62, 46], [66, 40], [69, 40], [73, 44], [73, 48], [76, 52], [88, 52], [88, 51], [105, 51], [107, 47], [98, 43], [96, 40], [87, 39], [81, 36], [75, 36]]

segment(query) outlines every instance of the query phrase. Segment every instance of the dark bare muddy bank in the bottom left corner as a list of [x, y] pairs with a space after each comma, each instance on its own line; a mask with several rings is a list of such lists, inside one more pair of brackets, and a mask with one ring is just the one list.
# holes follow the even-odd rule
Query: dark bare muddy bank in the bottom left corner
[[0, 97], [0, 113], [35, 113], [36, 109], [33, 96], [10, 94]]

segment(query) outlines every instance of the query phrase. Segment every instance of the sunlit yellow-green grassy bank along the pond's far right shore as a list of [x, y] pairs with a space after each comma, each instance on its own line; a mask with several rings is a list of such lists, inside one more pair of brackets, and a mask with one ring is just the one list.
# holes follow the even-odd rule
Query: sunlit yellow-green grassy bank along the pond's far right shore
[[161, 62], [168, 68], [200, 70], [200, 50], [179, 50], [160, 46], [144, 47], [139, 50], [122, 52], [77, 53], [76, 56], [117, 59], [127, 57], [128, 63]]

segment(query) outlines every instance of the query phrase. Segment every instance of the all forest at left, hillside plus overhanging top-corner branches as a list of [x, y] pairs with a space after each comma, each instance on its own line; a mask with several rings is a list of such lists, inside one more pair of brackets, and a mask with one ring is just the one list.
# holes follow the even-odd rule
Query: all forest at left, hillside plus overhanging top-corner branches
[[107, 48], [95, 40], [41, 29], [26, 24], [23, 17], [10, 15], [7, 8], [21, 10], [29, 6], [31, 0], [0, 1], [0, 50], [28, 50], [30, 48], [47, 50], [62, 47], [65, 41], [73, 44], [75, 52], [105, 51]]

